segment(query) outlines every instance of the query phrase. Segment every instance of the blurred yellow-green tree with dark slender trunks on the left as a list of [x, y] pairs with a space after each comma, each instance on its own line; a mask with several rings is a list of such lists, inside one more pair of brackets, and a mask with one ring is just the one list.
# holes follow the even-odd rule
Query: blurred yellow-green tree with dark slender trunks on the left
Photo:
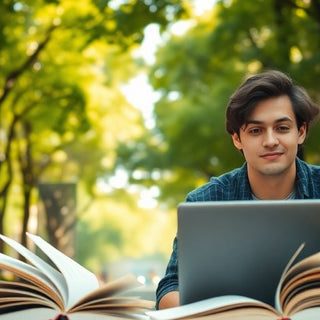
[[[81, 179], [93, 192], [99, 174], [109, 170], [101, 159], [114, 153], [118, 138], [110, 132], [113, 141], [101, 146], [108, 130], [101, 115], [122, 118], [130, 108], [117, 86], [135, 72], [130, 52], [141, 43], [144, 27], [165, 26], [183, 8], [180, 1], [162, 0], [118, 7], [111, 1], [22, 0], [3, 1], [0, 11], [0, 233], [6, 233], [13, 185], [20, 186], [15, 201], [24, 208], [25, 244], [39, 182]], [[127, 67], [114, 71], [121, 61]], [[94, 101], [98, 88], [116, 104]]]

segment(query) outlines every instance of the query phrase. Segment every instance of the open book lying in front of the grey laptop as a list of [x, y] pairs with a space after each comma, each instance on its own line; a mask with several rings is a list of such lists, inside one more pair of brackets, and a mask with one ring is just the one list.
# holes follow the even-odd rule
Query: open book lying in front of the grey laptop
[[153, 320], [319, 320], [320, 252], [296, 264], [303, 245], [290, 259], [275, 293], [275, 308], [242, 296], [221, 296], [183, 306], [149, 311]]

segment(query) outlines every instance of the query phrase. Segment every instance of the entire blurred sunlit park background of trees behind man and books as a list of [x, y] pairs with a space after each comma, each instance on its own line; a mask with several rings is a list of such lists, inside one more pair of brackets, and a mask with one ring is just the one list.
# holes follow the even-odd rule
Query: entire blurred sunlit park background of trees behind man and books
[[0, 233], [103, 280], [154, 288], [177, 204], [242, 164], [224, 114], [245, 77], [280, 69], [320, 102], [319, 0], [2, 0], [0, 16]]

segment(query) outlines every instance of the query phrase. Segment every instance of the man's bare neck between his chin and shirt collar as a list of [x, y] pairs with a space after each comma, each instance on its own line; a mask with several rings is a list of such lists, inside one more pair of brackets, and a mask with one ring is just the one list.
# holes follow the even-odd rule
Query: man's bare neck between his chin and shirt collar
[[264, 175], [250, 172], [248, 178], [253, 194], [260, 200], [286, 199], [294, 190], [295, 167], [281, 175]]

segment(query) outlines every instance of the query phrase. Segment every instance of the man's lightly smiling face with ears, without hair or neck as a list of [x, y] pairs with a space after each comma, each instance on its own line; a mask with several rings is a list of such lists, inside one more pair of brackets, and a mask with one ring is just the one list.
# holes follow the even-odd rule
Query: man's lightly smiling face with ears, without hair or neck
[[252, 174], [275, 176], [295, 172], [298, 144], [306, 137], [306, 125], [298, 129], [288, 96], [261, 101], [233, 143], [242, 150]]

